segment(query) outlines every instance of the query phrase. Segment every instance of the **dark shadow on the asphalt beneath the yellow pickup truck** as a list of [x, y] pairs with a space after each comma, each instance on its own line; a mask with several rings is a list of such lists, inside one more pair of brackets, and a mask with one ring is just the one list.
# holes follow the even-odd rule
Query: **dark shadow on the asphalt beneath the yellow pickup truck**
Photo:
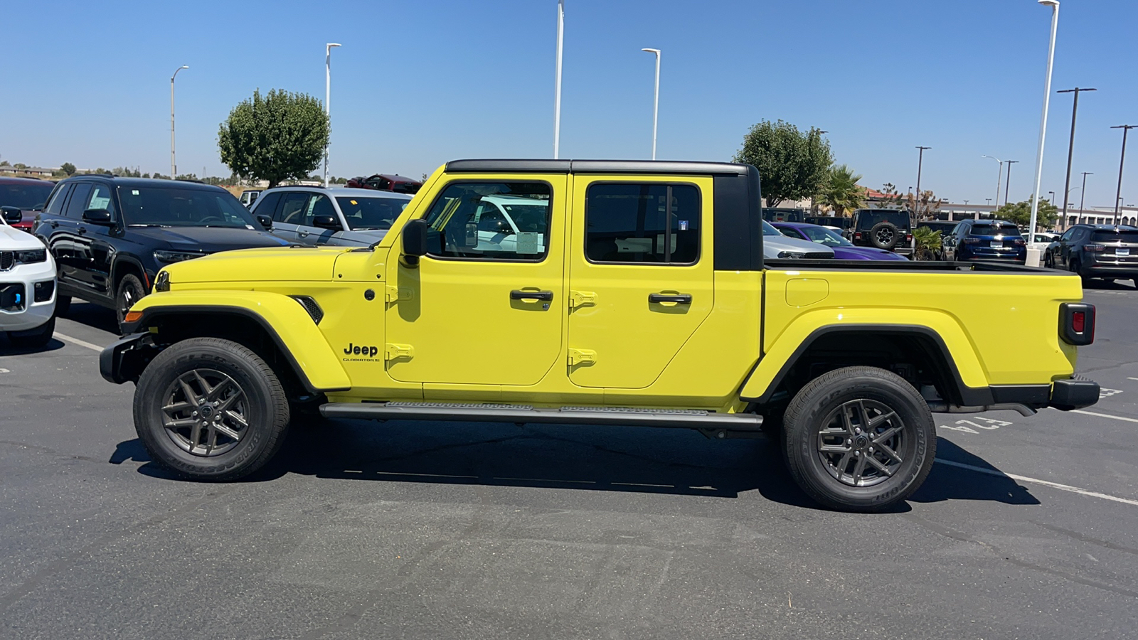
[[[938, 438], [938, 458], [991, 465]], [[172, 479], [138, 440], [119, 443], [110, 462], [145, 462], [139, 473]], [[765, 440], [710, 441], [686, 429], [465, 422], [310, 420], [295, 425], [277, 458], [240, 482], [287, 474], [318, 478], [535, 489], [576, 489], [737, 498], [758, 491], [774, 502], [817, 509]], [[934, 465], [914, 502], [986, 500], [1039, 504], [1007, 477]], [[910, 510], [901, 504], [894, 512]]]

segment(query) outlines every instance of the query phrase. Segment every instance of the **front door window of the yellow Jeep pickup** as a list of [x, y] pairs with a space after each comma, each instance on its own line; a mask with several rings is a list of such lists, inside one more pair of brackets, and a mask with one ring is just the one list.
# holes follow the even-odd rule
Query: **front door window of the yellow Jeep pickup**
[[539, 262], [549, 247], [552, 197], [546, 182], [452, 183], [427, 214], [427, 254]]

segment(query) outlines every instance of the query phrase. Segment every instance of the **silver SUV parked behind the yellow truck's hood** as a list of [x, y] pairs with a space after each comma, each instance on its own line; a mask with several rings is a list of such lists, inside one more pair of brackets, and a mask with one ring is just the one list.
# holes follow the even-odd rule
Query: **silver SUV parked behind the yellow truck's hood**
[[262, 191], [251, 212], [271, 219], [269, 230], [290, 243], [366, 247], [384, 238], [411, 198], [373, 189], [277, 187]]

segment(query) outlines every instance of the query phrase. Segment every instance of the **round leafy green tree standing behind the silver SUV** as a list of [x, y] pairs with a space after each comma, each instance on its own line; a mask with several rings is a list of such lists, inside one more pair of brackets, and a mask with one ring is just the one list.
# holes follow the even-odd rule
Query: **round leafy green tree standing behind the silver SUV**
[[320, 165], [328, 143], [328, 116], [320, 100], [272, 90], [233, 107], [217, 131], [221, 161], [242, 178], [305, 179]]

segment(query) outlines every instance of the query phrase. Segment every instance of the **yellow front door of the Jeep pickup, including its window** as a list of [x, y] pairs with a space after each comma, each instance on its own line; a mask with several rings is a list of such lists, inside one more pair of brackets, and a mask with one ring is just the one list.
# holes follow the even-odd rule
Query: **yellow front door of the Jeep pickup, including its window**
[[[560, 362], [566, 186], [563, 174], [471, 175], [443, 188], [424, 215], [428, 254], [414, 268], [388, 264], [397, 302], [384, 350], [394, 379], [533, 385]], [[487, 245], [477, 215], [496, 196], [511, 196], [527, 223], [512, 243]]]

